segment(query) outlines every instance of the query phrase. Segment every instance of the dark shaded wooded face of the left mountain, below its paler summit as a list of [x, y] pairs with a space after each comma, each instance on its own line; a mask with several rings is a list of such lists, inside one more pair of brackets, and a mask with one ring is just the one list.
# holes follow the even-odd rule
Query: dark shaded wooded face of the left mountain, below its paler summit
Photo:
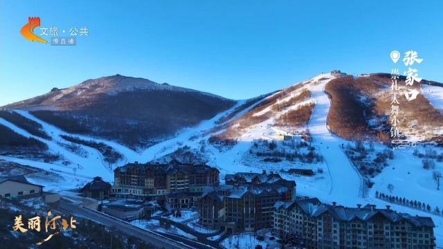
[[59, 105], [65, 111], [31, 113], [66, 132], [116, 140], [137, 149], [194, 127], [236, 103], [198, 92], [170, 90], [89, 97], [63, 100]]

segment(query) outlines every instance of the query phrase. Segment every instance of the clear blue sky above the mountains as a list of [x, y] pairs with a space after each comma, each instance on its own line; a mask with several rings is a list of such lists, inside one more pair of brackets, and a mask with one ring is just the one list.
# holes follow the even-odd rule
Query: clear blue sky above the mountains
[[[404, 71], [392, 50], [416, 50], [419, 77], [443, 82], [442, 10], [405, 0], [1, 1], [0, 105], [117, 73], [246, 99], [335, 69]], [[28, 17], [89, 36], [31, 43], [19, 32]]]

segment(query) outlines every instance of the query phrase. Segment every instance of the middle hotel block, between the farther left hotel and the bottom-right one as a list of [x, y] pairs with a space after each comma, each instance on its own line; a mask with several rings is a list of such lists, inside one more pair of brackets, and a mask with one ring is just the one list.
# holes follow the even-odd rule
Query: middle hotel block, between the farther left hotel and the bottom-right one
[[[199, 221], [210, 229], [256, 231], [273, 226], [273, 205], [277, 201], [292, 201], [296, 196], [296, 182], [275, 175], [238, 173], [248, 179], [262, 178], [257, 184], [206, 187], [199, 200]], [[226, 178], [231, 176], [227, 175]], [[267, 179], [272, 178], [269, 182]]]

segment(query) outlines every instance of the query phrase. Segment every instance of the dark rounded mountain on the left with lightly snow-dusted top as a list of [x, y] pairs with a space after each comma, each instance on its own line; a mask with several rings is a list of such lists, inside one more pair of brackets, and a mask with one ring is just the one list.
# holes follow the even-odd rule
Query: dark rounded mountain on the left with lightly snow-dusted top
[[140, 149], [226, 111], [237, 101], [142, 78], [114, 75], [8, 104], [69, 133]]

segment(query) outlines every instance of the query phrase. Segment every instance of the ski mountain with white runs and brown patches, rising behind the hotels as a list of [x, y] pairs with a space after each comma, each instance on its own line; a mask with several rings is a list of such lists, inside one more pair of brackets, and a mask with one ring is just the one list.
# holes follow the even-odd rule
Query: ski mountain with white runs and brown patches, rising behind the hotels
[[[45, 153], [58, 158], [17, 158], [3, 149], [0, 160], [55, 170], [65, 178], [63, 185], [41, 178], [29, 181], [53, 185], [48, 188], [57, 191], [97, 175], [113, 181], [112, 169], [135, 161], [204, 161], [219, 168], [222, 178], [235, 172], [273, 171], [295, 180], [298, 195], [315, 196], [325, 203], [391, 205], [397, 212], [432, 216], [438, 226], [437, 246], [443, 246], [443, 216], [434, 212], [443, 208], [443, 190], [437, 190], [433, 180], [433, 172], [443, 172], [443, 149], [439, 147], [443, 87], [436, 82], [422, 83], [414, 86], [420, 92], [416, 104], [398, 98], [398, 116], [403, 117], [399, 127], [404, 133], [414, 131], [404, 134], [410, 142], [406, 149], [386, 142], [392, 118], [387, 75], [327, 73], [282, 91], [238, 101], [174, 138], [140, 151], [115, 140], [68, 133], [32, 111], [9, 110], [10, 114], [0, 116], [1, 126], [6, 127], [2, 133], [24, 137], [25, 144], [40, 148], [35, 150], [37, 154], [46, 145], [49, 152]], [[33, 140], [24, 140], [28, 138]], [[291, 175], [292, 168], [311, 169], [314, 176]], [[394, 188], [388, 189], [388, 185]], [[382, 193], [393, 196], [393, 201], [382, 199]], [[418, 208], [399, 199], [426, 205]]]

